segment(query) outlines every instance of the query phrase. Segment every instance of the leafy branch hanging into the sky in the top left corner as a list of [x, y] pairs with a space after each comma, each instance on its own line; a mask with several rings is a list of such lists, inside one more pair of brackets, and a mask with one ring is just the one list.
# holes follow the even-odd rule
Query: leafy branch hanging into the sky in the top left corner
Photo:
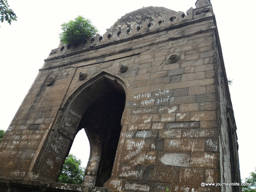
[[9, 8], [7, 0], [0, 0], [0, 15], [1, 23], [7, 21], [11, 24], [12, 21], [17, 20], [17, 16], [13, 10]]

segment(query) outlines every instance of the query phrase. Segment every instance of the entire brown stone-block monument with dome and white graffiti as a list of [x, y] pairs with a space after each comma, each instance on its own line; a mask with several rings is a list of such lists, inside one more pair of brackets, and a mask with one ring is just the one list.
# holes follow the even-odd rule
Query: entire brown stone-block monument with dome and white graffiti
[[207, 0], [196, 6], [142, 8], [103, 37], [60, 43], [0, 143], [0, 176], [56, 182], [84, 128], [92, 147], [85, 185], [240, 191], [200, 186], [240, 182], [240, 173], [216, 21]]

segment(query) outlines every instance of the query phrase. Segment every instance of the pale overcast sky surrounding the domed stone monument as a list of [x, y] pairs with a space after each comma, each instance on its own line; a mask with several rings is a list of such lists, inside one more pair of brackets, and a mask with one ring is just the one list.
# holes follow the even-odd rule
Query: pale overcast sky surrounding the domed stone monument
[[[18, 21], [0, 23], [0, 129], [7, 130], [38, 69], [50, 51], [58, 47], [60, 25], [77, 15], [89, 18], [100, 34], [124, 14], [143, 6], [163, 6], [175, 11], [194, 7], [196, 0], [8, 0]], [[256, 168], [256, 126], [254, 124], [256, 53], [255, 0], [211, 0], [216, 15], [220, 42], [236, 118], [240, 172], [244, 179]], [[73, 144], [79, 158], [85, 136]], [[76, 139], [77, 140], [77, 139]], [[81, 147], [82, 146], [82, 147]], [[87, 157], [88, 159], [88, 157]], [[86, 166], [87, 159], [83, 160]]]

